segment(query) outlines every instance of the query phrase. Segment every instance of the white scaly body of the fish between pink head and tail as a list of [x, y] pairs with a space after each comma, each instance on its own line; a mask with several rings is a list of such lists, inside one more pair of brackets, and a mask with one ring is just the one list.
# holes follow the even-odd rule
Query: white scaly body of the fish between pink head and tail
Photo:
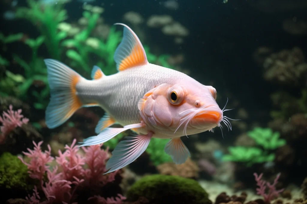
[[103, 76], [99, 80], [81, 80], [76, 89], [82, 102], [98, 102], [124, 126], [140, 122], [138, 101], [146, 92], [162, 83], [174, 84], [186, 77], [190, 78], [176, 70], [148, 64]]

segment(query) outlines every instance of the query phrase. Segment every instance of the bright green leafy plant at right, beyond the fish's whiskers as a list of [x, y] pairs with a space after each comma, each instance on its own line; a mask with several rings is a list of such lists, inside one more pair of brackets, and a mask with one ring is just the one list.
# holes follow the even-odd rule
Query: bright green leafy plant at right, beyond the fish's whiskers
[[[254, 128], [253, 131], [247, 132], [247, 135], [255, 140], [261, 146], [258, 147], [229, 147], [230, 154], [223, 156], [223, 161], [236, 161], [246, 163], [251, 166], [255, 163], [263, 163], [267, 161], [274, 161], [275, 154], [269, 153], [270, 150], [275, 150], [286, 144], [286, 140], [279, 139], [279, 133], [270, 128]], [[264, 150], [263, 150], [264, 149]]]

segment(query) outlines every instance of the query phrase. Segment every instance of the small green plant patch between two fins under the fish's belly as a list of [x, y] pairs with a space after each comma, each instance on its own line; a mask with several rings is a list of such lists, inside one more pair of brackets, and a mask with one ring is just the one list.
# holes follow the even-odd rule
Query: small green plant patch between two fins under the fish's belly
[[168, 142], [168, 139], [150, 139], [150, 143], [146, 149], [146, 152], [149, 154], [150, 160], [153, 162], [153, 165], [157, 166], [159, 164], [172, 161], [172, 158], [164, 151], [164, 147]]

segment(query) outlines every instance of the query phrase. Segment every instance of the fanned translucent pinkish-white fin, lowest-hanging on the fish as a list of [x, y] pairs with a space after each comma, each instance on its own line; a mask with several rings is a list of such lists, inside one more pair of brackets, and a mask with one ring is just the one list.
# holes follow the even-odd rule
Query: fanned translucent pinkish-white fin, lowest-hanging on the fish
[[109, 170], [106, 173], [121, 169], [141, 156], [148, 147], [152, 135], [150, 132], [147, 135], [127, 137], [127, 140], [119, 142], [112, 152], [112, 157], [107, 161], [106, 169]]

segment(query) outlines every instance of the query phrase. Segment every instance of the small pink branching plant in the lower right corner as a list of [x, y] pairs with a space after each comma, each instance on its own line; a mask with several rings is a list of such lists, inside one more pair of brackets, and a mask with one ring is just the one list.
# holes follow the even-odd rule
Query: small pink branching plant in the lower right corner
[[[254, 176], [258, 186], [258, 188], [256, 188], [257, 194], [262, 195], [264, 202], [267, 204], [270, 203], [271, 200], [273, 200], [274, 198], [277, 198], [279, 196], [279, 193], [281, 193], [284, 190], [284, 189], [276, 190], [276, 184], [278, 183], [280, 173], [277, 174], [273, 184], [270, 184], [265, 180], [261, 180], [263, 173], [261, 173], [259, 176], [257, 173], [254, 173]], [[268, 187], [269, 189], [267, 193], [266, 193], [266, 187]]]

